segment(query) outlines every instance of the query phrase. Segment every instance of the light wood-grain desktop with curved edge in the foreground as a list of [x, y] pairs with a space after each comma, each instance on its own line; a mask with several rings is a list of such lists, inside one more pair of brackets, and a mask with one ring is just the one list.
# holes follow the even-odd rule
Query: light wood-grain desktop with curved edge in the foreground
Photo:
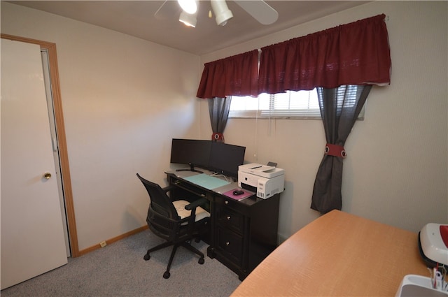
[[395, 296], [429, 276], [417, 234], [333, 210], [274, 250], [232, 296]]

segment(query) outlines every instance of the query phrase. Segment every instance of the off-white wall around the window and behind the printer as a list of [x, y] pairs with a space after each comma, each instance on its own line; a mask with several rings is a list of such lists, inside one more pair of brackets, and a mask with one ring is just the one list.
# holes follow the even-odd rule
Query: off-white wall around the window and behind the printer
[[[429, 222], [448, 223], [446, 1], [367, 3], [204, 55], [201, 63], [381, 13], [388, 16], [391, 85], [372, 89], [365, 120], [346, 142], [342, 210], [419, 231]], [[201, 117], [204, 138], [211, 134], [207, 103]], [[225, 140], [245, 145], [246, 161], [276, 161], [285, 169], [281, 239], [318, 217], [309, 206], [325, 146], [321, 121], [229, 119]]]

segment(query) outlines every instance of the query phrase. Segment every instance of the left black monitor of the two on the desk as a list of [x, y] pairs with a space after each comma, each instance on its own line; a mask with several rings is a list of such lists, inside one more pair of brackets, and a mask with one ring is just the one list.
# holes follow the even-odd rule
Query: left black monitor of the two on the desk
[[211, 140], [173, 138], [171, 163], [191, 164], [208, 168], [211, 152]]

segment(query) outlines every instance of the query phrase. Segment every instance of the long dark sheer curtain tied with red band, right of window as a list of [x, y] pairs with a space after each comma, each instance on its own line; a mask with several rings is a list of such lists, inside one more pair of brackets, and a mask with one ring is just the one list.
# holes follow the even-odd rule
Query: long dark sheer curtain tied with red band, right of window
[[342, 208], [342, 159], [344, 144], [372, 89], [371, 85], [342, 85], [317, 88], [325, 129], [325, 155], [314, 182], [311, 208], [321, 213]]

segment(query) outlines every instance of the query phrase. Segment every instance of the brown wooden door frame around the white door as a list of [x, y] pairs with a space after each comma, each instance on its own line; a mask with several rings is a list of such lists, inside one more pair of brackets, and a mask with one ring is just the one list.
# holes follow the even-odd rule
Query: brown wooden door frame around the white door
[[66, 219], [69, 229], [69, 242], [71, 256], [80, 256], [78, 247], [78, 233], [76, 232], [75, 210], [73, 207], [73, 194], [71, 189], [71, 177], [69, 167], [69, 154], [67, 151], [64, 115], [62, 113], [62, 99], [59, 87], [59, 71], [57, 68], [57, 52], [56, 44], [47, 41], [39, 41], [31, 38], [13, 36], [9, 34], [0, 34], [0, 38], [9, 39], [11, 41], [21, 41], [25, 43], [34, 43], [40, 45], [41, 48], [48, 51], [48, 60], [50, 63], [50, 79], [53, 96], [53, 106], [55, 110], [55, 122], [57, 131], [57, 143], [59, 145], [59, 158], [61, 164], [62, 184], [64, 191], [64, 201], [66, 209]]

